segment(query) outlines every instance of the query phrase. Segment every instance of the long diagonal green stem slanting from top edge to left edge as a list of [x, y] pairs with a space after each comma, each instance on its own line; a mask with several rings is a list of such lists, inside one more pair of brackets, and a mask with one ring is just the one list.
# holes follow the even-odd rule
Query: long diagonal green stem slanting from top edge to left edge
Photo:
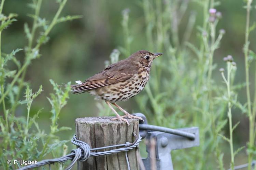
[[[64, 5], [66, 4], [67, 0], [63, 0], [59, 6], [59, 9], [57, 11], [57, 13], [55, 14], [51, 24], [49, 25], [49, 27], [47, 28], [47, 30], [44, 32], [44, 36], [47, 36], [49, 34], [49, 32], [52, 30], [52, 28], [55, 26], [55, 24], [57, 23], [57, 19], [64, 7]], [[40, 46], [42, 45], [42, 43], [38, 43], [34, 50], [39, 50]], [[9, 88], [5, 91], [4, 94], [2, 94], [2, 97], [0, 99], [0, 103], [4, 100], [4, 98], [8, 95], [8, 93], [11, 91], [12, 87], [14, 86], [14, 84], [16, 83], [16, 81], [18, 80], [20, 74], [27, 69], [29, 63], [30, 63], [31, 59], [28, 58], [28, 60], [23, 64], [22, 68], [20, 68], [20, 70], [18, 71], [18, 73], [15, 75], [13, 81], [11, 82]]]

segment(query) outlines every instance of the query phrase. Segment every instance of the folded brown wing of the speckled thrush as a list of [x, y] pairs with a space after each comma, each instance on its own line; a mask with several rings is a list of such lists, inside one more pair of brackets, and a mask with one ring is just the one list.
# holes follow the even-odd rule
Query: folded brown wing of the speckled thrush
[[73, 85], [72, 91], [75, 93], [82, 93], [86, 90], [114, 84], [117, 82], [125, 81], [136, 73], [137, 67], [135, 65], [128, 64], [127, 60], [122, 60], [114, 63], [93, 77], [87, 79], [84, 83], [79, 85]]

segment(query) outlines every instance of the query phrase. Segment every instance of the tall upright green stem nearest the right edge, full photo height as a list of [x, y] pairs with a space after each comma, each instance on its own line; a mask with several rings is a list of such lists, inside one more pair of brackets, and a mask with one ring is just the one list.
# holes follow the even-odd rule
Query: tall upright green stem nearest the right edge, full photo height
[[[249, 144], [248, 147], [251, 149], [254, 146], [254, 126], [255, 126], [255, 113], [251, 111], [251, 96], [250, 96], [250, 80], [249, 80], [249, 65], [248, 65], [248, 50], [249, 50], [249, 27], [250, 27], [250, 11], [251, 11], [252, 0], [247, 0], [246, 6], [246, 26], [245, 26], [245, 45], [244, 45], [244, 63], [245, 63], [245, 81], [246, 81], [246, 96], [247, 96], [247, 110], [249, 116]], [[256, 99], [254, 99], [256, 100]], [[248, 170], [251, 170], [253, 154], [248, 154]]]

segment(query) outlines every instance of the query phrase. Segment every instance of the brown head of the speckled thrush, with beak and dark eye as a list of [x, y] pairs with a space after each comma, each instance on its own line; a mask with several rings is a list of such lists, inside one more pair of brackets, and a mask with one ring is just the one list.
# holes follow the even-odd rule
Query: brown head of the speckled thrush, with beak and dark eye
[[146, 50], [140, 50], [130, 55], [129, 59], [139, 62], [145, 67], [151, 67], [153, 60], [160, 55], [162, 55], [162, 53], [151, 53]]

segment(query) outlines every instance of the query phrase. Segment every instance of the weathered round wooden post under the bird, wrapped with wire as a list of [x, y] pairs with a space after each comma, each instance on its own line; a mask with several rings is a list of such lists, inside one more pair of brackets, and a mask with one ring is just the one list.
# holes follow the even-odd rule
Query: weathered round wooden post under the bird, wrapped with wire
[[[111, 145], [132, 143], [135, 137], [133, 132], [138, 135], [138, 119], [128, 119], [130, 126], [125, 122], [110, 120], [113, 117], [86, 117], [75, 120], [76, 136], [78, 140], [86, 142], [91, 148], [106, 147]], [[116, 148], [101, 149], [109, 151]], [[127, 152], [130, 169], [139, 170], [139, 149], [132, 149]], [[125, 152], [114, 153], [107, 156], [91, 156], [85, 162], [78, 163], [79, 170], [128, 170]]]

